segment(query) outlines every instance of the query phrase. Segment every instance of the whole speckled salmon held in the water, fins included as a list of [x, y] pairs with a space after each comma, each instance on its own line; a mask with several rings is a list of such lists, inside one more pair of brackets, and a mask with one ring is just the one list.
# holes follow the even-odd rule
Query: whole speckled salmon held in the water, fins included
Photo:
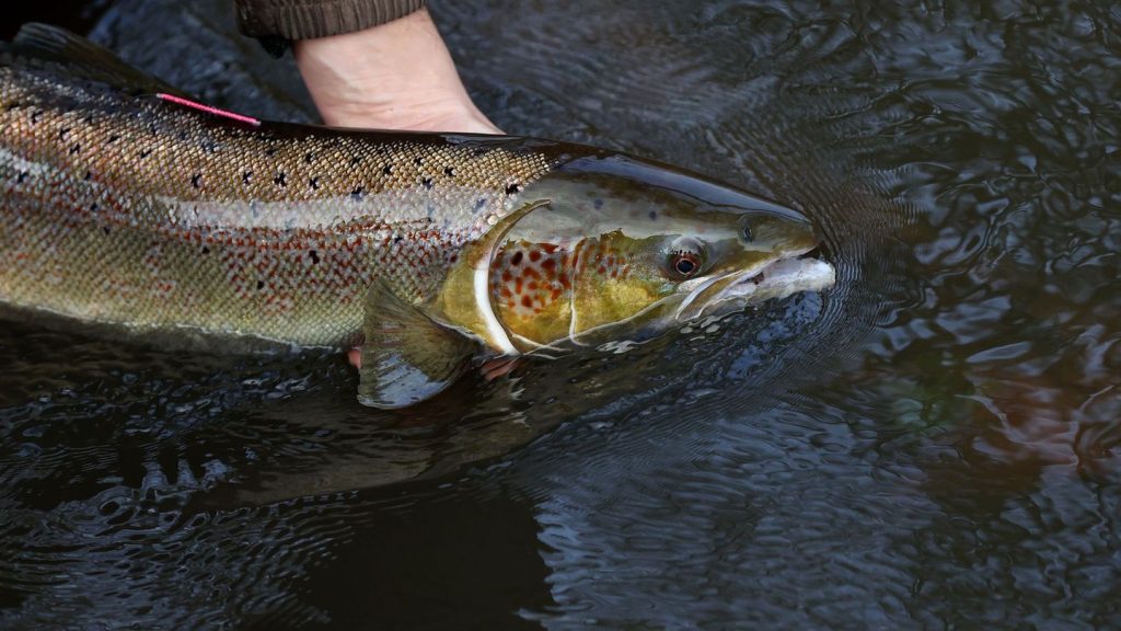
[[129, 330], [364, 337], [360, 400], [396, 408], [472, 356], [833, 282], [798, 258], [817, 243], [798, 213], [638, 158], [260, 122], [174, 94], [49, 27], [0, 52], [0, 302]]

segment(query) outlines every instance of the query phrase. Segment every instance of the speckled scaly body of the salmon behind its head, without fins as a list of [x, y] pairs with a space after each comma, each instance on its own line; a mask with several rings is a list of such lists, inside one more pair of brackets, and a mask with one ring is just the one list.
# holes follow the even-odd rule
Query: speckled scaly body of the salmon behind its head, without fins
[[[429, 295], [553, 157], [517, 141], [247, 125], [0, 68], [0, 301], [132, 328], [352, 342]], [[489, 220], [490, 218], [490, 220]]]

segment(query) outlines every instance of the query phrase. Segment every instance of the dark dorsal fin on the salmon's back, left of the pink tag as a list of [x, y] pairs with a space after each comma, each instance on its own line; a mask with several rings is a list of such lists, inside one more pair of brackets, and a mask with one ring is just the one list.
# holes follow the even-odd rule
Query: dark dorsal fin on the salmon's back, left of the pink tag
[[3, 48], [15, 63], [50, 64], [75, 79], [102, 83], [130, 94], [175, 94], [189, 98], [177, 88], [139, 71], [112, 51], [68, 30], [45, 24], [24, 25]]

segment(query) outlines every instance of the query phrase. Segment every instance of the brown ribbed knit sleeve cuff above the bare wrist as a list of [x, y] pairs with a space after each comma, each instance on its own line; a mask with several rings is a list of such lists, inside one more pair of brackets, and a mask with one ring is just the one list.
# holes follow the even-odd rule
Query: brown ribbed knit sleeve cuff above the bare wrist
[[314, 39], [382, 25], [424, 6], [425, 0], [239, 0], [238, 28], [250, 37]]

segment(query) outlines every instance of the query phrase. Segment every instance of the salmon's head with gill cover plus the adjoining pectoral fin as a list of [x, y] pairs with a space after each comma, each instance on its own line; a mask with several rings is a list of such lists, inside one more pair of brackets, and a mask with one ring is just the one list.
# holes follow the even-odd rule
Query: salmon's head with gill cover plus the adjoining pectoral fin
[[671, 167], [597, 153], [512, 190], [420, 301], [371, 287], [360, 401], [401, 408], [478, 354], [643, 339], [754, 301], [817, 290], [813, 226], [780, 204]]

